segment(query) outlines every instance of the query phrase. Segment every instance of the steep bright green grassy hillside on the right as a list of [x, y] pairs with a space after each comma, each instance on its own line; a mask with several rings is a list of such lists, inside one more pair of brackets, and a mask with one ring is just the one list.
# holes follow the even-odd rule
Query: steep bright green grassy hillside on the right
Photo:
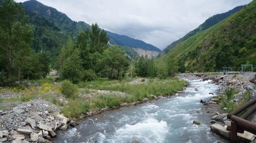
[[244, 63], [256, 66], [255, 25], [256, 1], [252, 1], [241, 11], [175, 46], [159, 60], [175, 59], [185, 64], [187, 71], [215, 71], [222, 67], [239, 71]]

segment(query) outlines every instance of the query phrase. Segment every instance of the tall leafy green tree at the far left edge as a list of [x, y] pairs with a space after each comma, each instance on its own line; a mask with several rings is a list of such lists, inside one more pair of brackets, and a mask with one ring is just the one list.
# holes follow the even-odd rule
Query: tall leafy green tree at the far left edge
[[26, 62], [29, 56], [32, 33], [33, 28], [28, 24], [21, 3], [3, 0], [0, 6], [0, 49], [4, 55], [1, 56], [4, 57], [1, 60], [6, 62], [8, 84], [15, 79], [13, 74], [17, 69], [20, 83], [21, 69], [24, 65], [22, 63]]

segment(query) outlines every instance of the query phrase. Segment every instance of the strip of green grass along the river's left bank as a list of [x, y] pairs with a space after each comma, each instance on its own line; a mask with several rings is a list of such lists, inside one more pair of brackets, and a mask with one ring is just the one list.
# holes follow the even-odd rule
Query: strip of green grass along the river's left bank
[[[130, 81], [130, 79], [128, 80]], [[132, 103], [134, 101], [142, 101], [144, 98], [152, 98], [154, 96], [166, 96], [182, 90], [188, 83], [176, 78], [168, 80], [150, 80], [148, 84], [126, 84], [126, 81], [90, 81], [82, 83], [84, 87], [93, 85], [96, 90], [121, 91], [129, 94], [129, 96], [117, 96], [114, 94], [101, 94], [85, 100], [82, 97], [70, 99], [70, 103], [61, 110], [67, 117], [76, 118], [89, 110], [96, 110], [105, 107], [118, 107], [122, 103]], [[117, 84], [119, 83], [119, 84]], [[114, 84], [110, 86], [111, 84]], [[81, 83], [80, 83], [81, 86]], [[83, 91], [82, 91], [83, 92]], [[86, 92], [86, 91], [85, 91]]]

